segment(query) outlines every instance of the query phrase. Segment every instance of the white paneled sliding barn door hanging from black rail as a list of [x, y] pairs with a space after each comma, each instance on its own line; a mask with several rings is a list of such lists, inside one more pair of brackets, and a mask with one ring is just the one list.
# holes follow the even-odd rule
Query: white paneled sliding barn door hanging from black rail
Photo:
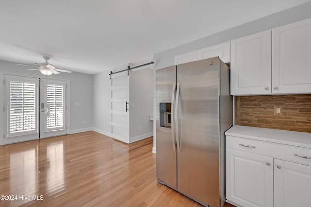
[[129, 76], [127, 71], [111, 77], [111, 128], [113, 138], [129, 143]]

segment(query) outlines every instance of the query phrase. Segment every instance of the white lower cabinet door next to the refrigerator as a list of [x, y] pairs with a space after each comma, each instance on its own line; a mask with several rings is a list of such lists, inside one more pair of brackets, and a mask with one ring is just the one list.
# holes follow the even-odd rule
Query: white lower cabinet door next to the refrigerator
[[273, 158], [225, 152], [226, 199], [243, 207], [273, 207]]

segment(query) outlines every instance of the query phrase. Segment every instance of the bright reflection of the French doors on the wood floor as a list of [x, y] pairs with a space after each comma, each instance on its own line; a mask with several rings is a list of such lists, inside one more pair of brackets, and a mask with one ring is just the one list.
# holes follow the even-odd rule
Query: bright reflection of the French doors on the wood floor
[[[40, 190], [52, 191], [64, 184], [63, 143], [31, 148], [10, 155], [10, 191], [22, 195], [35, 195]], [[38, 185], [43, 181], [46, 185]], [[38, 189], [39, 188], [39, 189]]]

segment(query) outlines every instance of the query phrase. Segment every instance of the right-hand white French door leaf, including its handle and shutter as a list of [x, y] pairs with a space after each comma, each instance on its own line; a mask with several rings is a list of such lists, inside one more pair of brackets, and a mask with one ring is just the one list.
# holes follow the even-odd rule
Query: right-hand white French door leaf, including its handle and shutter
[[40, 138], [67, 134], [67, 83], [40, 79]]

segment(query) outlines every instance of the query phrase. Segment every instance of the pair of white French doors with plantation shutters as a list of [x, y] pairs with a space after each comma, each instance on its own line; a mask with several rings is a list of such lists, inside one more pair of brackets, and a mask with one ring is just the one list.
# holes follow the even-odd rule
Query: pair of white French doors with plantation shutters
[[66, 81], [4, 76], [4, 143], [67, 134]]

